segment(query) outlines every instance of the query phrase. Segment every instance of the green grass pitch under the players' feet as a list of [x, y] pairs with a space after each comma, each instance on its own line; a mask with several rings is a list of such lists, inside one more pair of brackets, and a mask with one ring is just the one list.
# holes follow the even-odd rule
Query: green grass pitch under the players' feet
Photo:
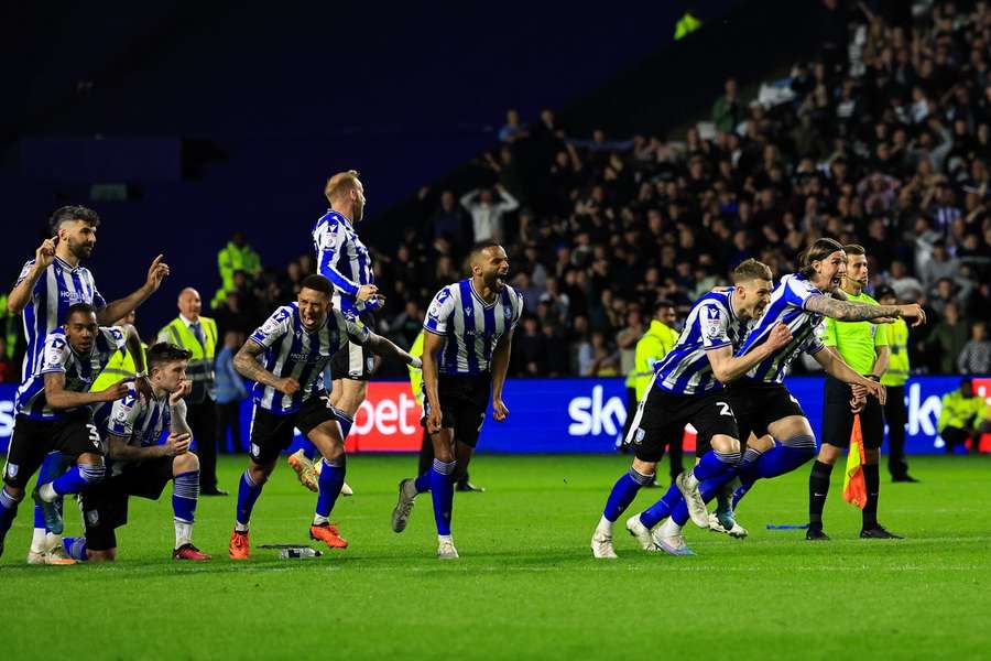
[[[244, 458], [222, 458], [237, 489]], [[905, 541], [857, 539], [860, 513], [826, 509], [832, 541], [766, 523], [806, 519], [808, 467], [760, 483], [743, 501], [750, 539], [686, 528], [696, 557], [647, 554], [617, 523], [618, 561], [589, 539], [629, 459], [479, 456], [486, 494], [457, 494], [461, 559], [436, 560], [429, 496], [410, 527], [389, 517], [415, 458], [352, 456], [334, 520], [351, 543], [276, 560], [264, 543], [306, 542], [315, 495], [281, 464], [252, 520], [252, 559], [227, 559], [235, 497], [204, 498], [196, 543], [215, 560], [176, 563], [170, 487], [131, 499], [113, 565], [24, 563], [30, 499], [0, 560], [4, 658], [979, 658], [987, 653], [991, 563], [989, 458], [913, 458], [923, 483], [882, 477], [881, 521]], [[30, 492], [30, 490], [29, 490]], [[629, 513], [660, 498], [642, 490]], [[67, 511], [75, 511], [67, 503]], [[78, 530], [69, 516], [67, 534]], [[313, 543], [316, 544], [315, 542]]]

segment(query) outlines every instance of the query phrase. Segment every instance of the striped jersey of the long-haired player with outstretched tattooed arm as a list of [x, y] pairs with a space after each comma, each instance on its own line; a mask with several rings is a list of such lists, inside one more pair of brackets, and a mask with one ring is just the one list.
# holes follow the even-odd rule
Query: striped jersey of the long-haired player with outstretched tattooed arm
[[806, 301], [823, 295], [825, 294], [802, 273], [792, 273], [781, 279], [771, 292], [771, 303], [747, 335], [737, 355], [745, 356], [754, 347], [766, 342], [775, 324], [785, 324], [792, 330], [792, 340], [777, 349], [774, 355], [758, 362], [747, 372], [747, 378], [781, 383], [788, 372], [792, 360], [801, 351], [817, 354], [825, 348], [819, 338], [825, 317], [805, 310]]

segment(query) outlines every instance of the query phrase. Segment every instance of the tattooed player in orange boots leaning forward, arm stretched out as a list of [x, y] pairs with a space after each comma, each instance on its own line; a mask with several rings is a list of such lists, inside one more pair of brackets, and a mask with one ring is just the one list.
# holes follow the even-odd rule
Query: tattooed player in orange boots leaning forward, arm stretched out
[[235, 357], [235, 369], [255, 384], [251, 458], [241, 476], [237, 520], [228, 549], [232, 560], [249, 556], [251, 510], [275, 468], [279, 454], [292, 443], [295, 427], [324, 457], [309, 535], [331, 549], [348, 545], [329, 521], [344, 485], [346, 456], [339, 414], [326, 403], [324, 368], [349, 340], [367, 346], [379, 356], [420, 365], [420, 360], [371, 333], [361, 322], [334, 308], [333, 295], [334, 288], [326, 278], [306, 277], [296, 302], [276, 310]]

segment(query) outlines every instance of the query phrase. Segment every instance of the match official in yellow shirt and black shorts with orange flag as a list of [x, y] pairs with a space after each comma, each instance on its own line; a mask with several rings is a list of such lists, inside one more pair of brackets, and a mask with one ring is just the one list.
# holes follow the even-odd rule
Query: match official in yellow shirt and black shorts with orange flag
[[[868, 258], [863, 247], [857, 243], [843, 246], [847, 254], [847, 272], [842, 290], [847, 300], [867, 305], [878, 302], [864, 293], [868, 284]], [[872, 381], [881, 381], [887, 369], [887, 326], [869, 322], [838, 322], [826, 319], [827, 347], [835, 347], [843, 360], [857, 372]], [[808, 530], [807, 540], [828, 540], [823, 532], [823, 509], [829, 494], [829, 476], [832, 466], [850, 446], [853, 416], [860, 416], [863, 435], [864, 464], [863, 480], [867, 486], [867, 503], [863, 507], [863, 525], [860, 537], [865, 539], [900, 539], [878, 523], [878, 495], [881, 490], [881, 475], [878, 464], [881, 459], [881, 442], [884, 440], [884, 413], [881, 403], [873, 398], [858, 401], [851, 408], [850, 387], [835, 378], [826, 377], [826, 401], [823, 405], [823, 447], [808, 476]]]

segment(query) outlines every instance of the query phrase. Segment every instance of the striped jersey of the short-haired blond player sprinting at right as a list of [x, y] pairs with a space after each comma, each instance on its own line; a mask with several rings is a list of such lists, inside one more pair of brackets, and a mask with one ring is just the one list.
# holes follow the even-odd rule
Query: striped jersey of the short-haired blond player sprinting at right
[[733, 312], [733, 290], [710, 292], [695, 302], [677, 344], [654, 366], [654, 383], [675, 394], [704, 394], [722, 388], [707, 351], [739, 348], [747, 325]]

